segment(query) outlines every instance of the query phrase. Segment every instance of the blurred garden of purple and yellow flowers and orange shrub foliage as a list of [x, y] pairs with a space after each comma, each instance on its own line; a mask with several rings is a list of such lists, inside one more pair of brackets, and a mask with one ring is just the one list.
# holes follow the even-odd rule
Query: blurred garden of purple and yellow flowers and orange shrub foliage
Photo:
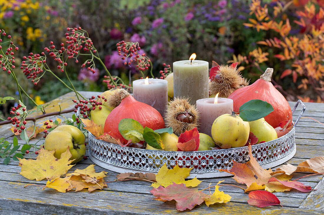
[[[250, 83], [272, 67], [273, 84], [288, 101], [323, 102], [323, 6], [323, 0], [0, 0], [0, 28], [19, 47], [15, 73], [38, 104], [70, 90], [50, 74], [34, 85], [19, 71], [23, 56], [41, 53], [50, 41], [59, 46], [66, 41], [66, 28], [79, 26], [88, 32], [108, 70], [125, 84], [141, 75], [118, 55], [116, 43], [121, 40], [139, 43], [157, 77], [163, 63], [172, 68], [174, 61], [195, 52], [196, 59], [208, 61], [210, 67], [213, 60], [239, 62]], [[47, 63], [68, 82], [53, 60]], [[94, 74], [74, 60], [66, 71], [76, 90], [107, 90], [107, 73], [99, 63]], [[0, 73], [0, 87], [0, 97], [18, 98], [7, 72]], [[34, 106], [27, 98], [24, 102]], [[2, 104], [0, 116], [7, 116], [12, 105]]]

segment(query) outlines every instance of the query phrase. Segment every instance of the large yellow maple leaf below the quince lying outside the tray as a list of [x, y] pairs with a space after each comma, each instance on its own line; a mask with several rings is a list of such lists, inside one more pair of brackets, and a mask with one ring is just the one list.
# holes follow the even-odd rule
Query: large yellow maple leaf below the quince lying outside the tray
[[62, 153], [60, 159], [54, 157], [54, 151], [41, 149], [36, 160], [18, 158], [19, 167], [21, 167], [20, 175], [30, 180], [36, 179], [36, 181], [60, 177], [74, 166], [69, 165], [74, 161], [74, 159], [69, 160], [71, 156], [69, 147]]

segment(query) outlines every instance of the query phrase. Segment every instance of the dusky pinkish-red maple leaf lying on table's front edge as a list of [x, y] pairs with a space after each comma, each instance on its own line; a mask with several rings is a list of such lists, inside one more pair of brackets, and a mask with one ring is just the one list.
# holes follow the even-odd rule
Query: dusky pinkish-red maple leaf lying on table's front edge
[[158, 201], [176, 201], [177, 210], [193, 209], [196, 205], [201, 205], [208, 195], [204, 194], [197, 189], [187, 188], [184, 184], [171, 184], [164, 188], [159, 186], [150, 191]]

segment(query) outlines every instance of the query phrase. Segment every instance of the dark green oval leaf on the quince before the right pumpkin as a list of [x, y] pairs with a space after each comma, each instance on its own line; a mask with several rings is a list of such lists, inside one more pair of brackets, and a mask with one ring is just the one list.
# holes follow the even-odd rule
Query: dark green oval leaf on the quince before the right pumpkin
[[259, 99], [254, 99], [242, 104], [239, 113], [243, 121], [251, 122], [267, 116], [272, 111], [273, 107], [271, 104]]

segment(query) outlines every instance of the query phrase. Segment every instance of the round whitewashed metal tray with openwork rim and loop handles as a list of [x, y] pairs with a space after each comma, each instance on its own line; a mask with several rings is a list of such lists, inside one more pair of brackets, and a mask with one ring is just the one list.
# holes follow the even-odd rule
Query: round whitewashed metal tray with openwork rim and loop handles
[[[288, 134], [269, 142], [252, 145], [253, 156], [261, 167], [266, 169], [278, 166], [295, 155], [295, 126], [306, 109], [303, 102], [298, 100], [292, 111], [293, 113], [298, 103], [302, 105], [303, 110]], [[77, 116], [79, 117], [79, 110]], [[193, 167], [188, 178], [224, 177], [231, 175], [217, 169], [232, 168], [232, 160], [240, 163], [249, 160], [247, 146], [208, 151], [170, 152], [127, 146], [121, 147], [120, 145], [95, 139], [95, 136], [90, 132], [88, 134], [91, 161], [100, 167], [118, 173], [157, 173], [160, 167], [166, 163], [168, 168], [172, 168], [177, 164], [179, 167]]]

